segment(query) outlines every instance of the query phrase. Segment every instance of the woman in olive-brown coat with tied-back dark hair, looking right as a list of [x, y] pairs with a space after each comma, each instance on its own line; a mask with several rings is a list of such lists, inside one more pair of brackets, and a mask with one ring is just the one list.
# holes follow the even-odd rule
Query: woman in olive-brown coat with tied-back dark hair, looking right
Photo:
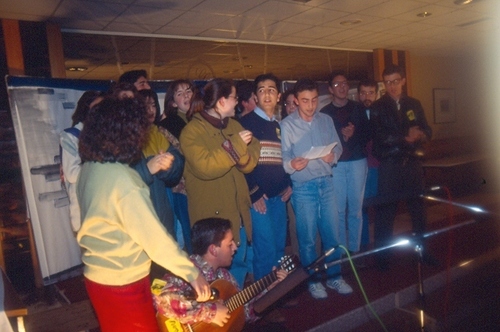
[[[238, 101], [233, 81], [216, 78], [193, 100], [195, 113], [181, 133], [186, 158], [184, 178], [191, 223], [205, 218], [229, 219], [239, 246], [231, 273], [240, 287], [250, 267], [245, 260], [251, 241], [250, 194], [245, 180], [259, 160], [260, 144], [232, 119]], [[243, 227], [244, 226], [244, 227]]]

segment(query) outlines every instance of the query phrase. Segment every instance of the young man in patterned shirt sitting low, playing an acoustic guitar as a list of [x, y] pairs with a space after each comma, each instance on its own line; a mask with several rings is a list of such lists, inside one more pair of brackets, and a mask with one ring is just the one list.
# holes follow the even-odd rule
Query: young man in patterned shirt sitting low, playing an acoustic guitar
[[[167, 273], [163, 277], [165, 283], [161, 285], [163, 286], [161, 291], [155, 292], [153, 290], [158, 310], [158, 321], [162, 331], [182, 331], [183, 329], [203, 331], [205, 327], [207, 330], [212, 330], [215, 327], [213, 324], [222, 327], [228, 322], [227, 326], [220, 329], [221, 331], [238, 330], [236, 326], [244, 324], [245, 321], [257, 319], [252, 306], [256, 299], [255, 296], [262, 296], [266, 289], [274, 287], [288, 274], [282, 269], [274, 270], [270, 275], [248, 287], [252, 290], [259, 289], [260, 294], [248, 294], [252, 291], [247, 292], [245, 289], [245, 292], [235, 295], [240, 289], [234, 277], [226, 269], [231, 265], [237, 249], [233, 240], [231, 222], [220, 218], [208, 218], [196, 222], [192, 229], [192, 244], [191, 261], [206, 280], [212, 283], [212, 287], [217, 289], [219, 297], [226, 301], [224, 303], [222, 300], [198, 303], [194, 300], [196, 295], [193, 294], [191, 286], [186, 281]], [[158, 280], [155, 282], [157, 283]], [[157, 287], [153, 284], [153, 289]], [[238, 296], [243, 298], [234, 299]], [[227, 299], [227, 297], [231, 298]], [[250, 298], [252, 299], [250, 300]], [[246, 301], [248, 303], [244, 307], [240, 307], [240, 304]], [[200, 322], [206, 324], [200, 324]], [[172, 329], [169, 329], [169, 326]], [[239, 330], [242, 327], [241, 325]]]

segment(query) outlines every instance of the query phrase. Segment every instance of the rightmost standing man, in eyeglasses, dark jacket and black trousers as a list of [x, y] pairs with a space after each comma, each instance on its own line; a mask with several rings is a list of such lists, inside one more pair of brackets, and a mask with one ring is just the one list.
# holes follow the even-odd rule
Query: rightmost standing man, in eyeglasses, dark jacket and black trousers
[[[375, 245], [390, 244], [399, 200], [405, 200], [413, 232], [425, 231], [422, 144], [432, 136], [420, 101], [403, 93], [403, 68], [390, 65], [382, 73], [386, 93], [372, 104], [376, 122], [374, 155], [380, 161], [378, 199], [375, 215]], [[428, 255], [424, 256], [429, 257]], [[387, 250], [377, 256], [378, 267], [386, 270]]]

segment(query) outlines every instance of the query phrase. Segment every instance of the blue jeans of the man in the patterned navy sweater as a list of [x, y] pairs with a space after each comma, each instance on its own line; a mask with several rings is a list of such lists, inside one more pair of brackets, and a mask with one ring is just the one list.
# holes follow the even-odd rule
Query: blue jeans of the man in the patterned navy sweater
[[281, 196], [269, 198], [265, 202], [265, 214], [257, 212], [253, 207], [250, 209], [255, 280], [270, 273], [285, 254], [286, 203], [281, 201]]

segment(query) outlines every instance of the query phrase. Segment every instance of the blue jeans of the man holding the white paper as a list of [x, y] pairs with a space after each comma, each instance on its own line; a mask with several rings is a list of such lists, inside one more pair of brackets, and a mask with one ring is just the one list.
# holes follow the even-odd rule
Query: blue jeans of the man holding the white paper
[[[337, 203], [333, 189], [333, 178], [322, 176], [302, 183], [293, 183], [292, 206], [297, 224], [299, 255], [301, 263], [307, 267], [318, 257], [316, 253], [316, 236], [321, 236], [323, 250], [339, 244], [339, 219]], [[335, 250], [325, 262], [340, 258], [342, 249]], [[327, 269], [329, 278], [338, 278], [340, 264]]]

